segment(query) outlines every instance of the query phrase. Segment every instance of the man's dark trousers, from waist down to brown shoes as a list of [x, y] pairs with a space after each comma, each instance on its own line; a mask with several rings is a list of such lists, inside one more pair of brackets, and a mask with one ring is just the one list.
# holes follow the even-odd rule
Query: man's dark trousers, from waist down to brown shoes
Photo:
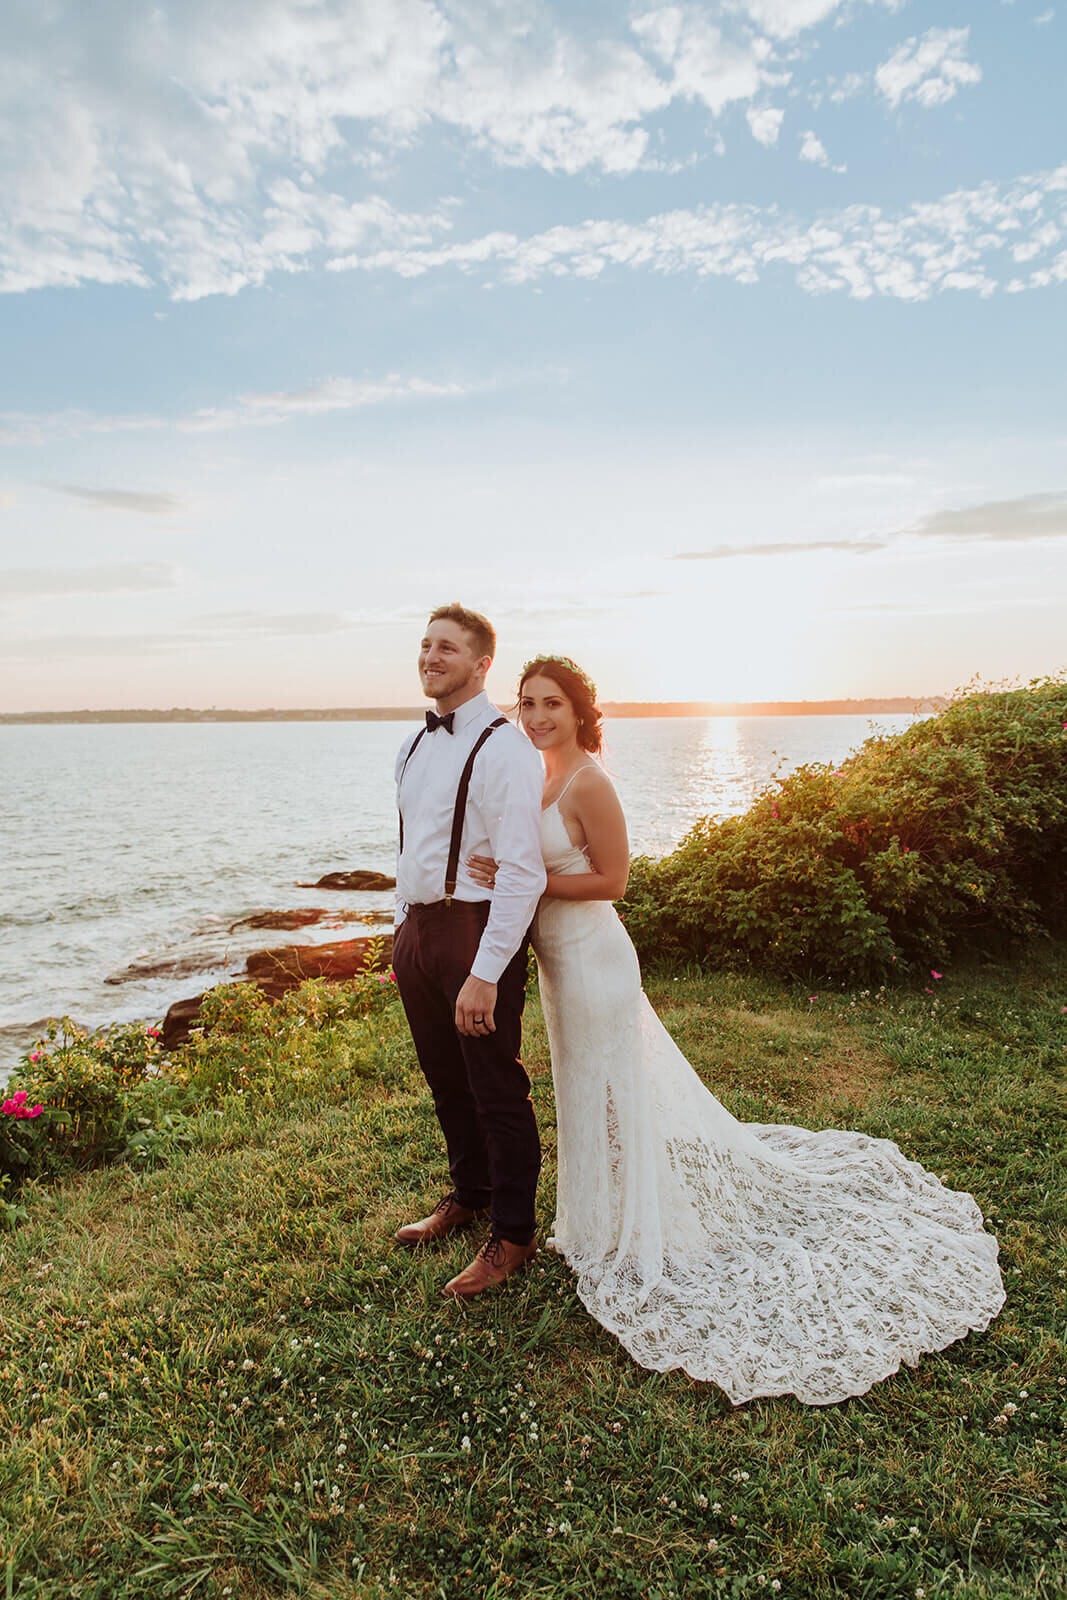
[[490, 1206], [493, 1229], [514, 1245], [534, 1237], [541, 1141], [518, 1051], [526, 1002], [526, 941], [504, 970], [496, 1032], [456, 1027], [456, 998], [470, 973], [490, 902], [411, 906], [397, 931], [394, 971], [422, 1075], [448, 1147], [456, 1198]]

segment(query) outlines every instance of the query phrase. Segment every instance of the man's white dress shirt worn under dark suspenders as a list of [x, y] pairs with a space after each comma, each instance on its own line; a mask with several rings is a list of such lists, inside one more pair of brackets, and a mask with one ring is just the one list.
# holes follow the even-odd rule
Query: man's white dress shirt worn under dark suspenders
[[[451, 733], [435, 728], [419, 739], [406, 770], [418, 731], [400, 746], [397, 805], [403, 816], [403, 851], [397, 851], [397, 926], [408, 906], [432, 906], [445, 898], [459, 779], [478, 734], [499, 715], [485, 693], [475, 694], [456, 707]], [[474, 978], [490, 984], [499, 982], [544, 894], [542, 787], [544, 770], [534, 747], [510, 723], [494, 728], [475, 755], [470, 774], [454, 893], [454, 899], [491, 902], [470, 966]], [[467, 856], [493, 856], [498, 862], [493, 890], [475, 883]]]

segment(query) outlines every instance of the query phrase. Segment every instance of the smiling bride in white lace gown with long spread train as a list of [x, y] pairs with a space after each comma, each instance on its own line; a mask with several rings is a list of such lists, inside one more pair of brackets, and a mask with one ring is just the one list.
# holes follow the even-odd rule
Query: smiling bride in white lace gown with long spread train
[[[662, 1027], [614, 912], [625, 819], [595, 686], [569, 658], [523, 667], [520, 722], [545, 766], [549, 882], [531, 931], [558, 1122], [553, 1248], [641, 1366], [734, 1405], [829, 1405], [985, 1328], [997, 1240], [896, 1144], [737, 1122]], [[496, 864], [470, 859], [491, 886]]]

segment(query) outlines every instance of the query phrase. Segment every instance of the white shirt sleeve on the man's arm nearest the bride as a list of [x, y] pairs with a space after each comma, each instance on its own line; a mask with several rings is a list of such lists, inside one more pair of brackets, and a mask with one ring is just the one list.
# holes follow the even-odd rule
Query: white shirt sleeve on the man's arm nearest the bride
[[[544, 894], [541, 858], [541, 758], [523, 736], [501, 728], [501, 742], [478, 771], [478, 811], [496, 861], [496, 885], [470, 976], [496, 984], [523, 942]], [[490, 739], [485, 754], [493, 747]]]

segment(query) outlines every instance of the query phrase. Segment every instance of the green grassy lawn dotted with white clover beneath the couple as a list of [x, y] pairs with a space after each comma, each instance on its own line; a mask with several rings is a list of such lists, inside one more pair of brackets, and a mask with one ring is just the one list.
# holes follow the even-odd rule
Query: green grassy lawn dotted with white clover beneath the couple
[[[370, 1075], [230, 1096], [170, 1165], [34, 1190], [0, 1237], [0, 1594], [1062, 1594], [1067, 947], [933, 994], [648, 989], [734, 1114], [893, 1138], [979, 1198], [987, 1334], [841, 1406], [733, 1410], [633, 1366], [552, 1254], [442, 1302], [477, 1237], [392, 1246], [445, 1186], [394, 1008], [352, 1024]], [[547, 1232], [536, 997], [528, 1024]]]

